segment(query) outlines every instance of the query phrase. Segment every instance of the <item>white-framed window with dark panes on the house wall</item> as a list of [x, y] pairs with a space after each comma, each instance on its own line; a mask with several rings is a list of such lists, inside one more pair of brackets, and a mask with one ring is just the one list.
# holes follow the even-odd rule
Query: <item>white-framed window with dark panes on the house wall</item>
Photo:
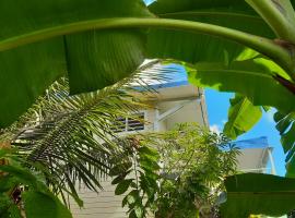
[[117, 118], [114, 132], [131, 132], [144, 130], [144, 112], [134, 113], [132, 118]]

